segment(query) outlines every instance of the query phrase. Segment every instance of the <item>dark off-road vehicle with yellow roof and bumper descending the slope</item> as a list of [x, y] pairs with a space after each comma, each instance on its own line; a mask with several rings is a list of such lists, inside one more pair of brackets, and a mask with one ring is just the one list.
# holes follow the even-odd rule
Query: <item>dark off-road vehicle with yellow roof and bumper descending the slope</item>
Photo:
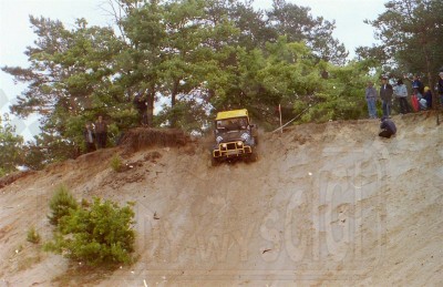
[[257, 161], [257, 126], [250, 123], [246, 109], [219, 112], [214, 124], [213, 166], [226, 161]]

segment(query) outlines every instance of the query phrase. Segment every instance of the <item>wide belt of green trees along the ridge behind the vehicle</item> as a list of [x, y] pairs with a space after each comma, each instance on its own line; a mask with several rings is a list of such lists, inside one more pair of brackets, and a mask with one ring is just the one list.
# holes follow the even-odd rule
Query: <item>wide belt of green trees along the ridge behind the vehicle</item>
[[[337, 94], [320, 76], [331, 63], [346, 62], [344, 47], [332, 38], [334, 22], [307, 7], [285, 0], [269, 11], [237, 0], [117, 0], [116, 7], [119, 33], [85, 19], [68, 29], [30, 17], [38, 40], [25, 51], [29, 68], [2, 68], [28, 84], [12, 111], [42, 117], [42, 133], [24, 156], [28, 166], [75, 158], [84, 148], [84, 124], [99, 114], [113, 143], [138, 125], [135, 95], [147, 100], [150, 125], [188, 132], [202, 132], [214, 111], [247, 107], [266, 122], [278, 104], [298, 101], [326, 101], [320, 110], [336, 111], [320, 114], [332, 117], [359, 116], [350, 111], [358, 107], [353, 88]], [[333, 85], [347, 88], [340, 81]], [[159, 101], [167, 106], [154, 116]]]

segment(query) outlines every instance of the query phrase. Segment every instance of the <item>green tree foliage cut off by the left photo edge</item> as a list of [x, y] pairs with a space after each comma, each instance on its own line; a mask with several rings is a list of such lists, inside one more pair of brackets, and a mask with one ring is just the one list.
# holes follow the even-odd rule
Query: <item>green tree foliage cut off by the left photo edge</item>
[[0, 177], [17, 171], [22, 164], [23, 139], [16, 135], [16, 127], [11, 125], [9, 115], [0, 116]]

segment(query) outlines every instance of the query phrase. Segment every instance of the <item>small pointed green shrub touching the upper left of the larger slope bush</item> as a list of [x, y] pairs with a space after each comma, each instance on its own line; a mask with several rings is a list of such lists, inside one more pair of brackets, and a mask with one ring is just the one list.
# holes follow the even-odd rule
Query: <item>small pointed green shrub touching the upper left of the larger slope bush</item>
[[48, 216], [52, 225], [59, 225], [64, 216], [68, 216], [71, 211], [79, 208], [79, 204], [74, 196], [70, 193], [65, 185], [60, 185], [52, 196], [49, 207], [51, 215]]

